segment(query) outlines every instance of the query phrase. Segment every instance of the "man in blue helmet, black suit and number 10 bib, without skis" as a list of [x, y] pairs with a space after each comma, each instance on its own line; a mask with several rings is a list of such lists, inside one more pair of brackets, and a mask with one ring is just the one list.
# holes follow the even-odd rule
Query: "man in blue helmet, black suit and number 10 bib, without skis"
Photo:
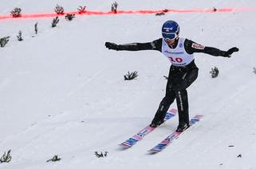
[[238, 52], [238, 48], [234, 47], [227, 51], [221, 51], [218, 48], [203, 46], [192, 40], [179, 37], [179, 25], [175, 21], [166, 21], [163, 24], [162, 36], [163, 38], [148, 43], [118, 45], [106, 42], [105, 46], [116, 51], [157, 50], [170, 60], [171, 67], [167, 80], [166, 94], [162, 102], [160, 102], [150, 126], [157, 127], [163, 123], [167, 110], [176, 98], [179, 112], [179, 125], [176, 131], [183, 132], [189, 127], [186, 89], [197, 79], [199, 71], [199, 68], [195, 65], [193, 53], [203, 52], [211, 56], [230, 57], [233, 52]]

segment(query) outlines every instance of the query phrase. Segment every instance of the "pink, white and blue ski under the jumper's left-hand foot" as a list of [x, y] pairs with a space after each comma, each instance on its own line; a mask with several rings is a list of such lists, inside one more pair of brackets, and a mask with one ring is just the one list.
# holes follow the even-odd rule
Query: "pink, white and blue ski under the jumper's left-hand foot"
[[[174, 117], [177, 113], [177, 109], [170, 109], [167, 111], [166, 116], [164, 117], [164, 121], [168, 121], [171, 117]], [[152, 133], [156, 128], [152, 128], [149, 125], [144, 129], [140, 130], [139, 133], [136, 133], [134, 136], [130, 137], [128, 140], [125, 140], [123, 143], [119, 144], [123, 148], [131, 148], [138, 141], [143, 140], [144, 136]]]

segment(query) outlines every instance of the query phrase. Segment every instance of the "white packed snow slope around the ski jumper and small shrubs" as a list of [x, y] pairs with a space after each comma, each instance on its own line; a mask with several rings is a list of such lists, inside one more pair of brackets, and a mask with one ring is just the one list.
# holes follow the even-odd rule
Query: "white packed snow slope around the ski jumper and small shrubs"
[[[0, 15], [109, 11], [113, 1], [1, 0]], [[120, 10], [255, 8], [254, 0], [191, 2], [123, 0]], [[11, 149], [2, 169], [191, 168], [256, 169], [255, 10], [230, 13], [166, 13], [8, 19], [0, 21], [0, 156]], [[152, 121], [165, 93], [170, 63], [156, 51], [116, 52], [105, 41], [125, 44], [160, 38], [164, 21], [179, 23], [180, 36], [199, 44], [240, 50], [231, 58], [195, 54], [199, 77], [189, 89], [190, 116], [203, 120], [163, 152], [148, 149], [178, 125], [178, 117], [131, 149], [118, 146]], [[33, 25], [38, 23], [37, 35]], [[18, 41], [18, 31], [23, 41]], [[211, 78], [212, 67], [219, 76]], [[128, 71], [136, 80], [124, 81]], [[171, 108], [176, 108], [175, 103]], [[108, 152], [97, 158], [94, 152]], [[46, 163], [54, 155], [56, 163]], [[240, 157], [238, 155], [241, 155]]]

